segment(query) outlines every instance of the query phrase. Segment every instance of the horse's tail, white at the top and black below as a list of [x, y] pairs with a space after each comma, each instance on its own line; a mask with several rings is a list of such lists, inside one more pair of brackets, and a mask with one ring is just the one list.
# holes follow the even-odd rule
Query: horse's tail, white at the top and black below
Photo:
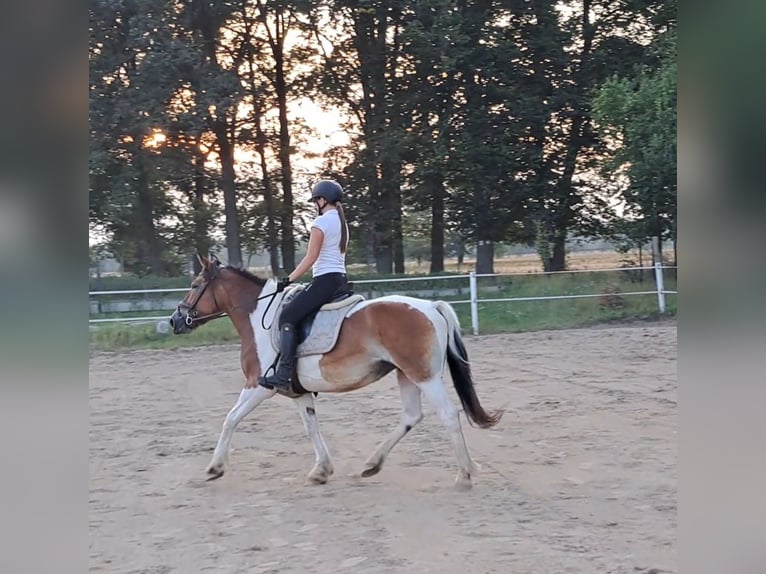
[[449, 334], [447, 344], [447, 365], [452, 375], [452, 384], [463, 405], [463, 410], [470, 421], [482, 428], [488, 428], [497, 424], [503, 416], [503, 411], [498, 410], [488, 413], [484, 410], [476, 395], [471, 376], [471, 364], [468, 362], [468, 353], [460, 336], [460, 320], [455, 310], [446, 301], [435, 301], [434, 306], [439, 314], [447, 321]]

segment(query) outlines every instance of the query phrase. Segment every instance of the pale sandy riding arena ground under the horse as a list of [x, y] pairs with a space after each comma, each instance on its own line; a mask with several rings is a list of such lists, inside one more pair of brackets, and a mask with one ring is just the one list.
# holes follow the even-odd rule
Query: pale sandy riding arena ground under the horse
[[238, 348], [93, 354], [90, 570], [675, 572], [675, 324], [466, 346], [483, 404], [507, 408], [492, 430], [463, 419], [483, 465], [469, 492], [453, 488], [455, 457], [427, 405], [383, 470], [358, 477], [398, 421], [393, 375], [318, 398], [328, 484], [304, 485], [313, 452], [282, 397], [243, 421], [229, 471], [206, 482], [242, 385]]

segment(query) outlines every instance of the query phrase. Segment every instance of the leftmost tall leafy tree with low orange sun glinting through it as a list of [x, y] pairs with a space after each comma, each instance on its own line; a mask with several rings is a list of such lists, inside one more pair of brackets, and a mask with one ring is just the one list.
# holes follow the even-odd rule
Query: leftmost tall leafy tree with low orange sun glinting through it
[[126, 269], [175, 273], [173, 207], [162, 187], [162, 122], [172, 83], [159, 2], [93, 2], [90, 6], [90, 218], [111, 235]]

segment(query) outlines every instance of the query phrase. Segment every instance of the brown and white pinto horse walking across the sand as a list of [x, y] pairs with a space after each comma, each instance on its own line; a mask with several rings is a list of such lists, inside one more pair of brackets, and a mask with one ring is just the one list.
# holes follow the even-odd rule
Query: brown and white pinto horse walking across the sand
[[[228, 452], [239, 422], [274, 396], [274, 389], [258, 384], [274, 360], [271, 333], [279, 295], [274, 279], [262, 279], [213, 258], [199, 257], [202, 272], [179, 303], [170, 323], [176, 334], [188, 333], [209, 320], [228, 315], [241, 339], [245, 386], [226, 415], [218, 444], [207, 469], [219, 478], [228, 465]], [[276, 299], [276, 300], [275, 300]], [[274, 302], [274, 304], [269, 304]], [[444, 301], [388, 296], [359, 303], [343, 320], [335, 347], [323, 355], [298, 359], [297, 372], [306, 394], [295, 398], [306, 432], [314, 446], [316, 464], [311, 482], [322, 484], [333, 473], [332, 462], [314, 409], [313, 393], [342, 393], [369, 385], [396, 371], [403, 410], [396, 428], [367, 459], [362, 476], [380, 471], [391, 449], [422, 418], [421, 394], [431, 403], [449, 431], [458, 462], [458, 487], [470, 487], [478, 465], [471, 459], [460, 428], [458, 411], [442, 378], [445, 362], [469, 420], [480, 427], [495, 425], [502, 411], [486, 412], [474, 390], [471, 369], [460, 338], [457, 316]]]

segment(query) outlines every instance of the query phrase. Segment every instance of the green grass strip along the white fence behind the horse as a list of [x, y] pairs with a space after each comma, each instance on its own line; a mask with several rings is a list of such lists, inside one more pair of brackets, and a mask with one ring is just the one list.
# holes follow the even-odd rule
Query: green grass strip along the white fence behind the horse
[[[628, 272], [562, 273], [559, 275], [518, 275], [502, 278], [480, 278], [479, 285], [479, 332], [481, 334], [535, 331], [542, 329], [565, 329], [585, 327], [602, 323], [653, 320], [661, 318], [657, 309], [657, 295], [622, 296], [620, 293], [651, 291], [654, 277], [646, 273], [643, 281]], [[438, 283], [438, 282], [431, 282]], [[450, 280], [429, 288], [454, 287]], [[465, 283], [463, 281], [462, 283]], [[405, 284], [397, 285], [397, 289]], [[423, 289], [423, 284], [413, 281], [410, 289]], [[360, 285], [358, 292], [364, 292]], [[674, 274], [666, 272], [665, 288], [676, 290]], [[482, 302], [481, 299], [506, 297], [539, 297], [546, 295], [578, 295], [610, 293], [607, 297], [583, 299], [559, 299], [544, 301]], [[441, 297], [449, 300], [468, 298], [463, 293]], [[675, 316], [676, 295], [666, 295], [666, 316]], [[471, 333], [470, 305], [456, 304], [463, 332]], [[150, 314], [155, 314], [154, 312]], [[161, 312], [156, 313], [162, 315]], [[170, 315], [168, 311], [167, 315]], [[166, 319], [159, 319], [162, 321]], [[93, 350], [125, 349], [172, 349], [200, 345], [238, 343], [231, 322], [218, 319], [189, 335], [176, 336], [157, 332], [157, 321], [141, 324], [98, 324], [91, 326], [90, 345]]]

